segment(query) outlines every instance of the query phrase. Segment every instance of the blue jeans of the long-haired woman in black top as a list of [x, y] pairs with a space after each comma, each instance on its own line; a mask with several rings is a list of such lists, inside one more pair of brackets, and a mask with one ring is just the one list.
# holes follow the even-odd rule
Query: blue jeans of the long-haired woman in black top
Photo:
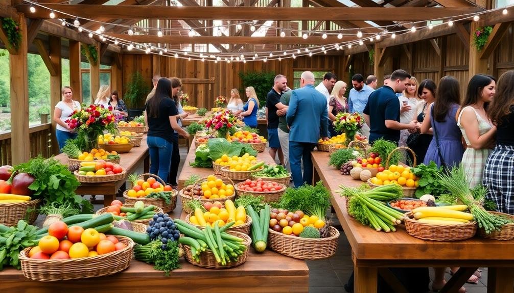
[[150, 152], [150, 173], [168, 180], [173, 143], [157, 136], [146, 137], [146, 143]]

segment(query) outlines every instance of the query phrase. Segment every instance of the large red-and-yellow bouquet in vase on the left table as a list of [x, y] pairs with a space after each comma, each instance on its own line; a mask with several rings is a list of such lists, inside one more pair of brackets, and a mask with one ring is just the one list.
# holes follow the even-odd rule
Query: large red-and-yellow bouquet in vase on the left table
[[108, 109], [103, 106], [89, 105], [82, 107], [82, 110], [75, 110], [65, 121], [69, 128], [78, 133], [77, 142], [79, 148], [83, 151], [90, 151], [96, 147], [98, 136], [103, 134], [104, 130], [113, 132], [116, 130], [116, 116], [111, 112], [112, 107]]

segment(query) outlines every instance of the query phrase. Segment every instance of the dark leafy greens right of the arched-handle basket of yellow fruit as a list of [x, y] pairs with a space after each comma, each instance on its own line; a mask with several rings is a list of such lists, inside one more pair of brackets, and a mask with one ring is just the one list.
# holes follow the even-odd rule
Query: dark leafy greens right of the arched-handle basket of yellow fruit
[[[445, 194], [450, 194], [450, 192], [439, 181], [439, 175], [443, 174], [443, 168], [438, 168], [434, 161], [430, 161], [430, 164], [428, 165], [419, 164], [415, 166], [413, 173], [420, 177], [419, 186], [415, 194], [417, 198], [420, 198], [425, 194], [431, 194], [436, 199], [439, 199]], [[451, 201], [451, 198], [448, 197], [443, 197], [443, 199]]]

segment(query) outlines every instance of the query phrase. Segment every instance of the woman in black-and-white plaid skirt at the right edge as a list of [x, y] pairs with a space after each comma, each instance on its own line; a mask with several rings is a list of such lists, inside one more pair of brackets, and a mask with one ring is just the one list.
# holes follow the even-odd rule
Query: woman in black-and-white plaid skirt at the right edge
[[498, 212], [514, 215], [514, 70], [500, 76], [488, 109], [496, 125], [496, 147], [485, 163], [483, 183]]

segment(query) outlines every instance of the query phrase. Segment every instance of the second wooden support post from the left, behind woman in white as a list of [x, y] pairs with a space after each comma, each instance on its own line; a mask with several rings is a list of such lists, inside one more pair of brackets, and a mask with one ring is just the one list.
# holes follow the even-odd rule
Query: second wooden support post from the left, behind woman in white
[[[61, 88], [62, 88], [62, 72], [61, 72], [61, 38], [58, 36], [48, 36], [48, 43], [50, 44], [50, 61], [52, 67], [56, 70], [54, 75], [50, 75], [50, 110], [61, 100]], [[53, 111], [51, 111], [53, 115]], [[52, 121], [52, 149], [51, 152], [54, 155], [59, 154], [59, 144], [57, 143], [56, 122]]]

